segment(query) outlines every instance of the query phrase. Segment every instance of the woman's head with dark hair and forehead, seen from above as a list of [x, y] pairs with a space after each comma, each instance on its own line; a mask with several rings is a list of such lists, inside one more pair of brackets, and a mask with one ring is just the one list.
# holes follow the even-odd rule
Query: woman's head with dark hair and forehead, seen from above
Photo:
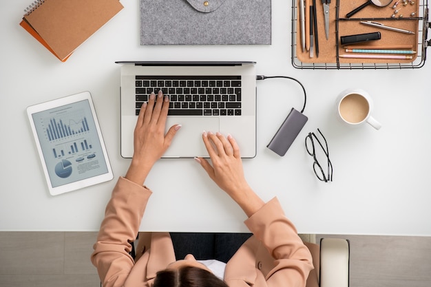
[[194, 259], [187, 255], [162, 271], [154, 279], [154, 287], [228, 287], [223, 280]]

